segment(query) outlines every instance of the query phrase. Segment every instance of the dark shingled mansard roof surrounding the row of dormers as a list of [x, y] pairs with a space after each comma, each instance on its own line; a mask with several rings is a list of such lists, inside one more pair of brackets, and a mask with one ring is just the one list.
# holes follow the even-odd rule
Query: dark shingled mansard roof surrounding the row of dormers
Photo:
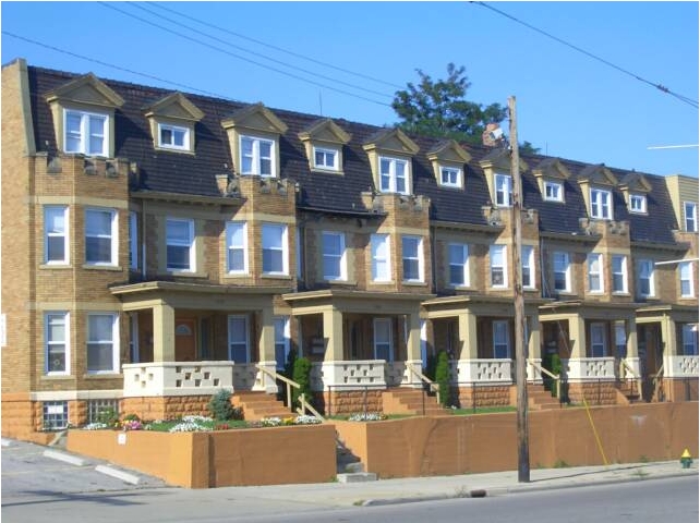
[[[39, 150], [55, 151], [56, 133], [45, 96], [71, 81], [81, 78], [82, 75], [33, 66], [29, 66], [28, 71], [31, 89], [33, 95], [37, 95], [32, 97], [36, 144], [40, 144]], [[280, 175], [299, 183], [299, 205], [326, 209], [329, 214], [364, 209], [361, 193], [371, 191], [374, 185], [366, 144], [388, 139], [389, 143], [398, 141], [405, 147], [408, 146], [413, 155], [413, 192], [430, 198], [431, 219], [435, 221], [486, 224], [482, 206], [490, 205], [491, 198], [485, 181], [484, 161], [491, 165], [503, 163], [503, 167], [507, 168], [507, 158], [504, 157], [503, 149], [457, 143], [469, 157], [464, 157], [463, 163], [464, 187], [443, 187], [435, 180], [429, 158], [431, 153], [444, 146], [443, 139], [333, 118], [333, 125], [325, 125], [334, 129], [337, 126], [343, 134], [347, 133], [348, 137], [348, 142], [342, 145], [343, 175], [312, 173], [300, 135], [316, 130], [319, 122], [327, 120], [326, 117], [195, 94], [183, 95], [203, 113], [203, 118], [195, 123], [194, 155], [156, 150], [150, 139], [147, 118], [144, 117], [144, 108], [157, 105], [159, 100], [171, 96], [172, 90], [102, 78], [99, 82], [123, 99], [123, 105], [114, 110], [114, 151], [117, 157], [138, 165], [142, 174], [141, 185], [134, 187], [134, 191], [219, 196], [216, 175], [229, 172], [234, 165], [222, 121], [232, 118], [241, 122], [253, 114], [268, 119], [279, 131]], [[236, 85], [231, 88], [234, 92]], [[342, 137], [345, 138], [345, 135]], [[647, 193], [648, 214], [630, 215], [619, 186], [619, 181], [632, 181], [629, 177], [630, 171], [542, 155], [521, 156], [523, 206], [538, 209], [543, 232], [570, 233], [579, 229], [579, 218], [588, 216], [580, 182], [586, 184], [588, 181], [592, 185], [603, 183], [605, 188], [611, 190], [615, 219], [630, 222], [632, 241], [674, 243], [671, 231], [678, 229], [678, 224], [662, 177], [643, 175], [650, 187]], [[538, 186], [538, 171], [570, 174], [560, 179], [566, 205], [543, 202]]]

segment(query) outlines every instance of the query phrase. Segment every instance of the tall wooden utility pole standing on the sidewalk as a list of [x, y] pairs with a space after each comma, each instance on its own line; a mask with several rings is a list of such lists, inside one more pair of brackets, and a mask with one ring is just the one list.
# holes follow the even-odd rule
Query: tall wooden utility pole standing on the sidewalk
[[528, 375], [524, 345], [524, 296], [522, 294], [522, 182], [518, 153], [516, 97], [508, 98], [510, 117], [510, 175], [512, 177], [512, 268], [515, 275], [516, 388], [518, 391], [518, 482], [530, 482], [530, 443], [528, 441]]

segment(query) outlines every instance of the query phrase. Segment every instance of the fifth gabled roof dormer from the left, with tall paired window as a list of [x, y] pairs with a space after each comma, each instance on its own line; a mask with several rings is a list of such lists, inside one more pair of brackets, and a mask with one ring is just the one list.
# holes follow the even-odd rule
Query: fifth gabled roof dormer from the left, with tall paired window
[[412, 194], [412, 158], [420, 147], [400, 129], [385, 129], [362, 145], [367, 151], [374, 186], [381, 193]]

